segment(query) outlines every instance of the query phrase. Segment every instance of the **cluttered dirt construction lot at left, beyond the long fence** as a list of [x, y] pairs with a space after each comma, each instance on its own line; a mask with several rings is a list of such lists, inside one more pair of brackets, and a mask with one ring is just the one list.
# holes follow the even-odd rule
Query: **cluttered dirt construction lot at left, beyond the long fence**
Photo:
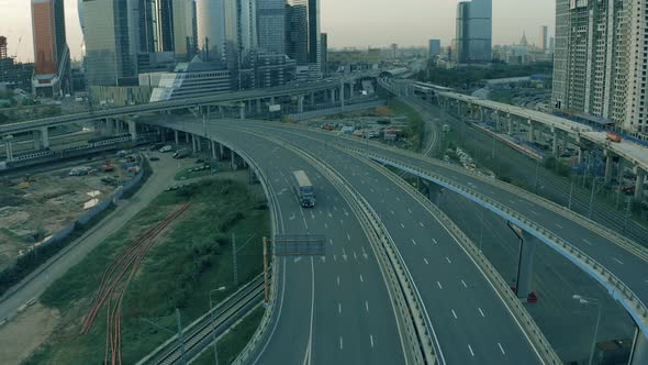
[[[112, 161], [114, 172], [68, 176], [71, 167], [51, 170], [0, 184], [0, 270], [9, 266], [25, 248], [43, 242], [87, 211], [91, 200], [100, 202], [127, 179], [121, 163]], [[103, 180], [102, 180], [103, 179]], [[85, 207], [86, 206], [86, 207]]]

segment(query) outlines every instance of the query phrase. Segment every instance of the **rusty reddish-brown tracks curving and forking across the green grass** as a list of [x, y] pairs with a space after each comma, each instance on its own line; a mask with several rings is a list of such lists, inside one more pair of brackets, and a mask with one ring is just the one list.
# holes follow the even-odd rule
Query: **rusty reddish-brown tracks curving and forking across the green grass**
[[174, 220], [182, 215], [189, 209], [190, 203], [186, 203], [171, 212], [167, 218], [155, 226], [148, 229], [144, 234], [133, 241], [127, 250], [121, 253], [111, 265], [103, 272], [99, 290], [92, 300], [92, 307], [86, 316], [80, 334], [87, 334], [99, 311], [105, 305], [105, 354], [104, 364], [122, 364], [121, 352], [121, 333], [122, 333], [122, 301], [133, 276], [139, 269], [144, 256], [155, 244], [155, 239], [167, 228]]

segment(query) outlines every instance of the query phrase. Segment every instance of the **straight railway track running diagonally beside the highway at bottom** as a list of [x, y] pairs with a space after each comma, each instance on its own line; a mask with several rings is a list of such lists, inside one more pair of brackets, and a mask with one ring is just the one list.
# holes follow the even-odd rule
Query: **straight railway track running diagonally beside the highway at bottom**
[[139, 361], [137, 365], [182, 364], [182, 357], [187, 362], [190, 361], [211, 345], [214, 336], [217, 338], [224, 333], [236, 321], [249, 312], [250, 309], [260, 303], [262, 299], [264, 276], [259, 275], [228, 299], [222, 301], [213, 310], [193, 322], [188, 329], [183, 330], [183, 350], [178, 343], [178, 335], [175, 335], [152, 354]]

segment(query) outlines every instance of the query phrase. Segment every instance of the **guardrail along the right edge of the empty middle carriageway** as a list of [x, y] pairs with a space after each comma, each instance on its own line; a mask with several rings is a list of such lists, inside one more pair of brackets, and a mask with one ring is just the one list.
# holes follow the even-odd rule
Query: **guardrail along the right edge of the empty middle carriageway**
[[523, 331], [529, 336], [529, 342], [538, 351], [538, 354], [545, 361], [545, 363], [556, 365], [562, 364], [560, 357], [558, 357], [558, 354], [556, 354], [554, 347], [550, 345], [543, 331], [538, 328], [526, 308], [524, 308], [524, 306], [519, 302], [519, 299], [511, 290], [511, 287], [506, 280], [504, 280], [502, 275], [500, 275], [496, 268], [485, 257], [483, 252], [477, 247], [470, 237], [468, 237], [468, 235], [466, 235], [466, 233], [463, 233], [463, 231], [461, 231], [448, 215], [438, 209], [438, 207], [433, 204], [426, 197], [424, 197], [418, 190], [414, 189], [405, 180], [399, 178], [392, 172], [372, 161], [365, 163], [382, 173], [390, 180], [399, 185], [403, 190], [407, 191], [414, 199], [425, 207], [427, 211], [429, 211], [429, 213], [434, 215], [448, 230], [448, 232], [450, 232], [453, 236], [455, 236], [457, 242], [463, 248], [463, 252], [468, 254], [472, 262], [480, 268], [482, 274], [489, 279], [493, 286], [493, 289], [499, 294], [500, 298], [505, 301], [505, 305], [513, 313], [515, 321], [519, 323]]

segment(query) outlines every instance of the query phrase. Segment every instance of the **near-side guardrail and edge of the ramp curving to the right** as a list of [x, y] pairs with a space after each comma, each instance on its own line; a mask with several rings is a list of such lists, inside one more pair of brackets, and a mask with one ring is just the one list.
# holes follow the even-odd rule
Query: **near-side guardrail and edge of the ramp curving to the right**
[[402, 161], [396, 161], [384, 156], [371, 156], [371, 154], [368, 153], [366, 153], [366, 155], [371, 159], [394, 167], [404, 168], [411, 174], [435, 181], [436, 184], [439, 184], [450, 190], [454, 190], [470, 200], [473, 200], [476, 202], [482, 202], [485, 208], [492, 210], [499, 215], [505, 217], [511, 222], [515, 223], [516, 225], [523, 228], [525, 231], [538, 237], [540, 241], [552, 246], [556, 251], [558, 251], [572, 263], [577, 264], [579, 267], [588, 272], [599, 283], [606, 287], [611, 291], [613, 297], [616, 300], [621, 301], [622, 305], [628, 310], [630, 316], [635, 318], [637, 325], [639, 325], [641, 331], [644, 333], [648, 333], [648, 308], [641, 301], [641, 299], [637, 297], [637, 295], [635, 295], [635, 292], [629, 287], [627, 287], [604, 265], [601, 265], [599, 262], [593, 259], [591, 256], [589, 256], [581, 250], [569, 244], [569, 242], [565, 241], [563, 239], [556, 235], [551, 231], [545, 229], [544, 226], [533, 222], [532, 220], [527, 219], [517, 211], [514, 211], [509, 207], [500, 203], [499, 201], [491, 199], [482, 193], [479, 193], [472, 189], [466, 188], [465, 186], [457, 184], [444, 176], [434, 174], [418, 166], [405, 164]]

